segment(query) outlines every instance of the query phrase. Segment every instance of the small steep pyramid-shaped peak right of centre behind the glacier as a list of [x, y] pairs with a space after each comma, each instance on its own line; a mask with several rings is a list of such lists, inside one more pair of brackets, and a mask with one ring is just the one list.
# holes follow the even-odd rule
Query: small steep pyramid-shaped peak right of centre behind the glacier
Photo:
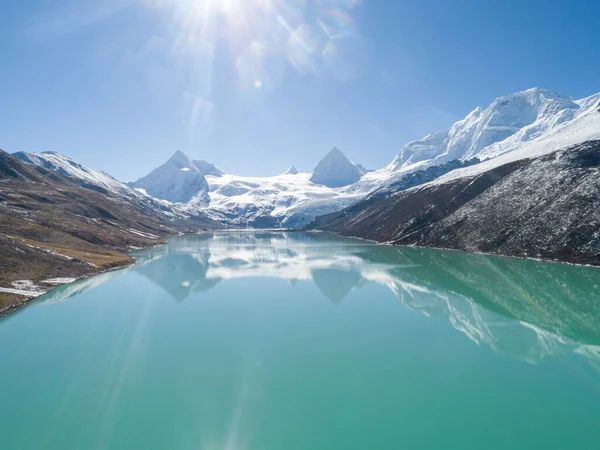
[[359, 165], [353, 164], [340, 149], [334, 147], [317, 164], [310, 181], [330, 188], [338, 188], [356, 183], [366, 173]]

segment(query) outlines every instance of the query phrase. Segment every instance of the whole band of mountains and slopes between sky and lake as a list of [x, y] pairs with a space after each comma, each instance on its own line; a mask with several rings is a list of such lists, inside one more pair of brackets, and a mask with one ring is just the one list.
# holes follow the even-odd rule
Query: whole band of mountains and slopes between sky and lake
[[379, 170], [334, 148], [310, 173], [242, 177], [178, 151], [126, 184], [59, 153], [0, 153], [7, 308], [43, 292], [44, 280], [126, 265], [134, 247], [218, 228], [600, 265], [600, 94], [498, 98]]

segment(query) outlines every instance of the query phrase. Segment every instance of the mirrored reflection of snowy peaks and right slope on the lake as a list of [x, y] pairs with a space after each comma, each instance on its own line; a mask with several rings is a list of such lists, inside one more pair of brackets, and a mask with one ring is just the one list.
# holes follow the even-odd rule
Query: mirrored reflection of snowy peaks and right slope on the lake
[[377, 283], [411, 310], [524, 361], [558, 352], [600, 359], [594, 268], [275, 232], [180, 237], [134, 256], [131, 270], [178, 302], [242, 277], [309, 280], [335, 305]]

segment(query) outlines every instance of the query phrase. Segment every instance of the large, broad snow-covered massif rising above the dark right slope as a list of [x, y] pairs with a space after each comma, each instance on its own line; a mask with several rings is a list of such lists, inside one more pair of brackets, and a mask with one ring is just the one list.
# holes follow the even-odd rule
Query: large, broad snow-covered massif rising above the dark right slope
[[[600, 95], [577, 101], [540, 88], [500, 97], [486, 109], [476, 108], [450, 129], [407, 144], [388, 169], [408, 171], [455, 159], [486, 160], [518, 152], [526, 143], [565, 131], [564, 127], [578, 122], [586, 113], [595, 112], [598, 101]], [[581, 134], [569, 133], [572, 139], [566, 145], [593, 139], [598, 129], [584, 126], [579, 131]]]

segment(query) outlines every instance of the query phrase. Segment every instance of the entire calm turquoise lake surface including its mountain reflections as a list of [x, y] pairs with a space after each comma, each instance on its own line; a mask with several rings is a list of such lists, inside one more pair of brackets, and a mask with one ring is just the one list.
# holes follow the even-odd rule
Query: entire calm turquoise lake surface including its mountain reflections
[[174, 239], [0, 322], [0, 448], [600, 448], [600, 270]]

